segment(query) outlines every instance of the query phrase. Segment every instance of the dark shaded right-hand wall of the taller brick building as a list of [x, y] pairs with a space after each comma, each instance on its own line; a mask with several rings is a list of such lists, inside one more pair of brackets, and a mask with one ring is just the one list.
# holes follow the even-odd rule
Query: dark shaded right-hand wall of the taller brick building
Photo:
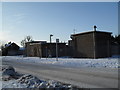
[[111, 56], [111, 34], [96, 33], [96, 57]]

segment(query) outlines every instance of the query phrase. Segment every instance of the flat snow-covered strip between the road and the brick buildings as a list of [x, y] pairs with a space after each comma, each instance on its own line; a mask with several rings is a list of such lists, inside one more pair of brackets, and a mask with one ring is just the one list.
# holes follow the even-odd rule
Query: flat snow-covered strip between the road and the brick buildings
[[102, 59], [75, 59], [75, 58], [39, 58], [39, 57], [21, 57], [21, 56], [7, 56], [3, 57], [2, 60], [12, 60], [17, 62], [28, 62], [36, 64], [50, 64], [50, 65], [60, 65], [68, 67], [104, 67], [104, 68], [119, 68], [120, 58], [102, 58]]

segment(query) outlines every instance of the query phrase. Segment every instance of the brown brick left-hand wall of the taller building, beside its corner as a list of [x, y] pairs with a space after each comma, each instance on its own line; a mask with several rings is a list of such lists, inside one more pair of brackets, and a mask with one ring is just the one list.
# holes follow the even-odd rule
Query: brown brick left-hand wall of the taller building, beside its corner
[[93, 57], [93, 34], [77, 35], [73, 39], [73, 57]]

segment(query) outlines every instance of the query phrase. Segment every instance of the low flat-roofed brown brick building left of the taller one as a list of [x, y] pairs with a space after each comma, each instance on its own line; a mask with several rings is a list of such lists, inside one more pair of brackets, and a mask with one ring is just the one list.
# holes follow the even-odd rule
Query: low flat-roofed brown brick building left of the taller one
[[[67, 54], [66, 43], [58, 43], [58, 56]], [[32, 41], [26, 43], [26, 56], [32, 57], [56, 57], [56, 43], [46, 41]]]

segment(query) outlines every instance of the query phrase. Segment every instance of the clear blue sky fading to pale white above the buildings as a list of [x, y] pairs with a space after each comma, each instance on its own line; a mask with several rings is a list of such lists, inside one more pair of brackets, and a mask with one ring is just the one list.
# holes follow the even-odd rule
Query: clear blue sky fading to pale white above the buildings
[[118, 34], [117, 2], [4, 2], [1, 40], [20, 44], [25, 36], [34, 40], [59, 38], [67, 41], [73, 34], [93, 30]]

